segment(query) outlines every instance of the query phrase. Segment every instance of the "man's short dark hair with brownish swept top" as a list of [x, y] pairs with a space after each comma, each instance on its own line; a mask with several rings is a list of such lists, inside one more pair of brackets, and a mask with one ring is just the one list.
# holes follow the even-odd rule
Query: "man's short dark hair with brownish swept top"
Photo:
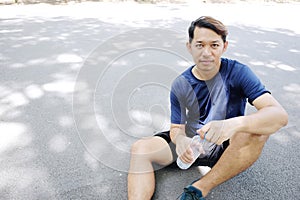
[[188, 32], [189, 32], [190, 43], [192, 42], [192, 40], [194, 38], [194, 31], [195, 31], [196, 27], [208, 28], [208, 29], [214, 31], [215, 33], [217, 33], [218, 35], [220, 35], [222, 37], [222, 40], [224, 42], [226, 42], [226, 37], [228, 35], [226, 26], [222, 22], [220, 22], [212, 17], [202, 16], [202, 17], [198, 18], [197, 20], [192, 21], [192, 23], [189, 27]]

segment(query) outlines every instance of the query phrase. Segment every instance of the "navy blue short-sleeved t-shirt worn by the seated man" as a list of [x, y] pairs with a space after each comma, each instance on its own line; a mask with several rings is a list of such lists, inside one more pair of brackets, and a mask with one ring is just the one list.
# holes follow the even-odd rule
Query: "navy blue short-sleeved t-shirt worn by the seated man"
[[221, 59], [219, 73], [201, 81], [188, 68], [171, 88], [171, 123], [186, 124], [187, 135], [212, 120], [242, 116], [246, 102], [269, 92], [251, 69], [235, 60]]

